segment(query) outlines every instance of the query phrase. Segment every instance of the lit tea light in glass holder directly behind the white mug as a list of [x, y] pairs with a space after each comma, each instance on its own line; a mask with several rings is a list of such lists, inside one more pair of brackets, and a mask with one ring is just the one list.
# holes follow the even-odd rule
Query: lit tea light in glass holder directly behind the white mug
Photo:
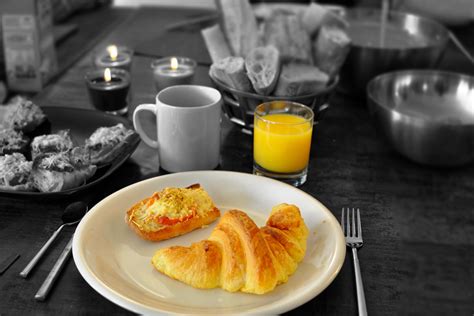
[[165, 57], [153, 61], [153, 80], [157, 91], [166, 87], [191, 84], [196, 61], [185, 57]]

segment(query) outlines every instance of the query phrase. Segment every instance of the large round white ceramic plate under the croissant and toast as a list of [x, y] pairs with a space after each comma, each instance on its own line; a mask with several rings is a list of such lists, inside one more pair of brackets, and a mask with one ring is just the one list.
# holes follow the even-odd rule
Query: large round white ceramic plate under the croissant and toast
[[[239, 208], [262, 226], [274, 205], [299, 206], [310, 230], [306, 257], [288, 282], [265, 295], [200, 290], [168, 278], [151, 265], [154, 252], [206, 239], [215, 226], [163, 242], [140, 239], [124, 221], [135, 202], [165, 187], [200, 183], [225, 212]], [[226, 171], [165, 175], [130, 185], [102, 200], [79, 224], [73, 243], [76, 266], [84, 279], [110, 301], [141, 314], [275, 314], [291, 310], [321, 293], [344, 262], [340, 225], [319, 201], [279, 181]]]

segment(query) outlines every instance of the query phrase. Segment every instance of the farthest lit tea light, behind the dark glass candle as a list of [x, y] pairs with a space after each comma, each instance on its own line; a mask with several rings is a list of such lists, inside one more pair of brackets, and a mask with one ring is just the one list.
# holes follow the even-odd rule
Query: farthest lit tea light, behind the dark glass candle
[[94, 64], [98, 68], [121, 68], [130, 70], [133, 51], [125, 46], [109, 45], [97, 54]]

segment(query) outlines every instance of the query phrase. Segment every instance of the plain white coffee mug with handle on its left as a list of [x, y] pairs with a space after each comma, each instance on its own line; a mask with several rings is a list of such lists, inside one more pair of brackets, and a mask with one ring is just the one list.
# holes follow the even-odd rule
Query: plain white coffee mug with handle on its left
[[[158, 149], [160, 165], [169, 172], [214, 169], [219, 164], [222, 97], [213, 88], [178, 85], [156, 95], [156, 104], [141, 104], [133, 125], [142, 140]], [[157, 140], [143, 130], [139, 113], [156, 116]]]

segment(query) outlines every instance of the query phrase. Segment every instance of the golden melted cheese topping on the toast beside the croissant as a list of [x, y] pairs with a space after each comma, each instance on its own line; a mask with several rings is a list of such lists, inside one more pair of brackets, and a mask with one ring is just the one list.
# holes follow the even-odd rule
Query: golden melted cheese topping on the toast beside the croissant
[[205, 216], [214, 207], [212, 199], [202, 188], [165, 188], [137, 207], [130, 220], [144, 231], [157, 231], [165, 226], [159, 223], [160, 217], [184, 221], [194, 216]]

